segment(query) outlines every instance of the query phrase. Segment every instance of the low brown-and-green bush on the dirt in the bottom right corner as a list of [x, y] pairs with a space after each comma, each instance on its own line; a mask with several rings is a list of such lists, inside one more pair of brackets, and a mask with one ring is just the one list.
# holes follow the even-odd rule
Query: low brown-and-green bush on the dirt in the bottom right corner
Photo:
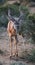
[[35, 49], [32, 49], [30, 51], [27, 51], [27, 49], [25, 49], [22, 53], [21, 53], [21, 58], [28, 60], [29, 62], [35, 62]]

